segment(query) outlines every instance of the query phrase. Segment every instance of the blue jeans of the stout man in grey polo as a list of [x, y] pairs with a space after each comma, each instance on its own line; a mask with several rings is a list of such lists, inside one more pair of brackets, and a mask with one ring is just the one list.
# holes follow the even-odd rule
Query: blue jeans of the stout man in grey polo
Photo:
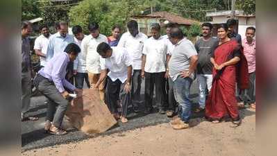
[[192, 103], [189, 98], [191, 85], [191, 78], [181, 78], [180, 76], [173, 82], [174, 96], [179, 107], [181, 107], [181, 120], [185, 123], [189, 122], [190, 115], [192, 114]]

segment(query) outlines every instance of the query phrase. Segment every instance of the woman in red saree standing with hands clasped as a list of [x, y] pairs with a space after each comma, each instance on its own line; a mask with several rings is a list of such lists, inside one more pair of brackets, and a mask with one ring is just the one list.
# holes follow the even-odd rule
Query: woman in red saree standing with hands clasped
[[[234, 124], [232, 127], [236, 127], [242, 121], [237, 108], [235, 84], [238, 83], [241, 87], [248, 86], [244, 76], [247, 72], [245, 69], [247, 64], [245, 64], [246, 60], [241, 52], [241, 46], [237, 41], [228, 37], [226, 24], [218, 27], [217, 36], [219, 45], [210, 58], [214, 68], [212, 89], [205, 105], [205, 118], [212, 123], [219, 123], [230, 117]], [[243, 70], [239, 69], [239, 66]]]

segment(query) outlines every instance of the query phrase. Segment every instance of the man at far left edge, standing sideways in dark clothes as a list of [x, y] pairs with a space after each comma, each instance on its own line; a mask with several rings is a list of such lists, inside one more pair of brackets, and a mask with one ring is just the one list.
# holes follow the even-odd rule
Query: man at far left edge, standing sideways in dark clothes
[[28, 35], [33, 31], [31, 22], [22, 22], [22, 121], [25, 119], [35, 121], [38, 118], [33, 116], [26, 117], [26, 112], [30, 107], [31, 99], [31, 58], [30, 58], [30, 40]]

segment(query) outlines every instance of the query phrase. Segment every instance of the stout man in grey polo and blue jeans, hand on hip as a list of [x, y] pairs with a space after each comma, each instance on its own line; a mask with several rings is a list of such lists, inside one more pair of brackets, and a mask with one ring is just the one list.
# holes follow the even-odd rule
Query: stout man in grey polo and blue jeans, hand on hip
[[180, 28], [172, 28], [169, 40], [174, 49], [169, 60], [169, 76], [173, 80], [174, 96], [181, 107], [181, 118], [171, 121], [175, 130], [189, 128], [192, 103], [190, 102], [190, 86], [197, 65], [197, 53], [194, 44], [184, 37]]

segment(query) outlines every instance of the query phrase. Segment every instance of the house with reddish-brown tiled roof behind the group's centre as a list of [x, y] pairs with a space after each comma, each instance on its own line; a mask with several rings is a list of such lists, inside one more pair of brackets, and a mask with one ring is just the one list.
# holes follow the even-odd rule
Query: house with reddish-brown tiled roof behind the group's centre
[[150, 28], [151, 24], [153, 23], [159, 23], [160, 26], [165, 26], [165, 22], [167, 21], [170, 23], [178, 24], [179, 26], [185, 26], [186, 28], [190, 28], [192, 24], [201, 24], [200, 21], [187, 19], [171, 12], [154, 12], [153, 14], [149, 15], [132, 16], [131, 19], [137, 21], [140, 32], [148, 36], [151, 35]]

